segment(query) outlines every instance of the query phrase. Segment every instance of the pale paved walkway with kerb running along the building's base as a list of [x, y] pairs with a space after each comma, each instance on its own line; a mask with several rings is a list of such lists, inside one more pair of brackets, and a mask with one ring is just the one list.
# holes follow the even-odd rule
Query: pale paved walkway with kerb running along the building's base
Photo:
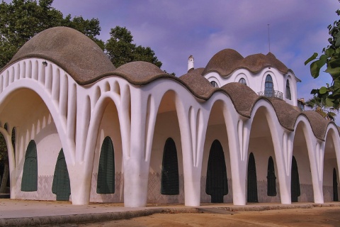
[[232, 214], [234, 211], [264, 211], [273, 209], [307, 209], [312, 207], [339, 206], [340, 202], [326, 204], [295, 203], [283, 204], [248, 204], [234, 206], [232, 204], [202, 204], [199, 207], [183, 205], [127, 208], [123, 204], [89, 204], [72, 205], [69, 201], [30, 201], [16, 199], [0, 199], [0, 226], [37, 226], [49, 224], [84, 223], [96, 221], [118, 220], [147, 216], [158, 213], [214, 213]]

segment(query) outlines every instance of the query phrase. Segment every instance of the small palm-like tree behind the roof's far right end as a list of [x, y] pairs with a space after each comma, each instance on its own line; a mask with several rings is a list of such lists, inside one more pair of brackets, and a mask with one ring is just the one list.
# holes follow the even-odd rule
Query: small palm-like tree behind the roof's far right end
[[329, 121], [335, 121], [336, 114], [339, 112], [339, 109], [334, 109], [334, 107], [327, 106], [326, 100], [320, 98], [317, 95], [314, 95], [312, 99], [306, 101], [305, 105]]

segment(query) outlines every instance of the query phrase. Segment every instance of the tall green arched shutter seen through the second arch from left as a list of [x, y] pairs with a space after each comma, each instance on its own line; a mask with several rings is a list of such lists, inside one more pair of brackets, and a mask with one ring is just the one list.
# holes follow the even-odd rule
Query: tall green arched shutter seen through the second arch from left
[[115, 155], [110, 137], [106, 136], [101, 145], [101, 156], [98, 165], [98, 194], [115, 193]]

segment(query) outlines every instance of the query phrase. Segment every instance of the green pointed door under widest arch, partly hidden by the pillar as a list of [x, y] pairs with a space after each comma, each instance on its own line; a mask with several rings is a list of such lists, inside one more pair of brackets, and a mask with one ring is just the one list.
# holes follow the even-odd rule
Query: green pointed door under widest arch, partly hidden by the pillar
[[53, 175], [52, 193], [57, 195], [58, 201], [69, 201], [71, 187], [69, 185], [69, 171], [65, 161], [64, 151], [60, 150], [55, 164], [55, 175]]

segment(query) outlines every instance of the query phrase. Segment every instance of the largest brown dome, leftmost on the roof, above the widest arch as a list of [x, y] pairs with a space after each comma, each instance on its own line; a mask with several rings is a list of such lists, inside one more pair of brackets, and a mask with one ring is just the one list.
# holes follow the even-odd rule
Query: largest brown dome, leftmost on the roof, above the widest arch
[[103, 50], [83, 33], [67, 27], [49, 28], [18, 50], [9, 64], [26, 57], [55, 62], [79, 84], [89, 84], [115, 67]]

